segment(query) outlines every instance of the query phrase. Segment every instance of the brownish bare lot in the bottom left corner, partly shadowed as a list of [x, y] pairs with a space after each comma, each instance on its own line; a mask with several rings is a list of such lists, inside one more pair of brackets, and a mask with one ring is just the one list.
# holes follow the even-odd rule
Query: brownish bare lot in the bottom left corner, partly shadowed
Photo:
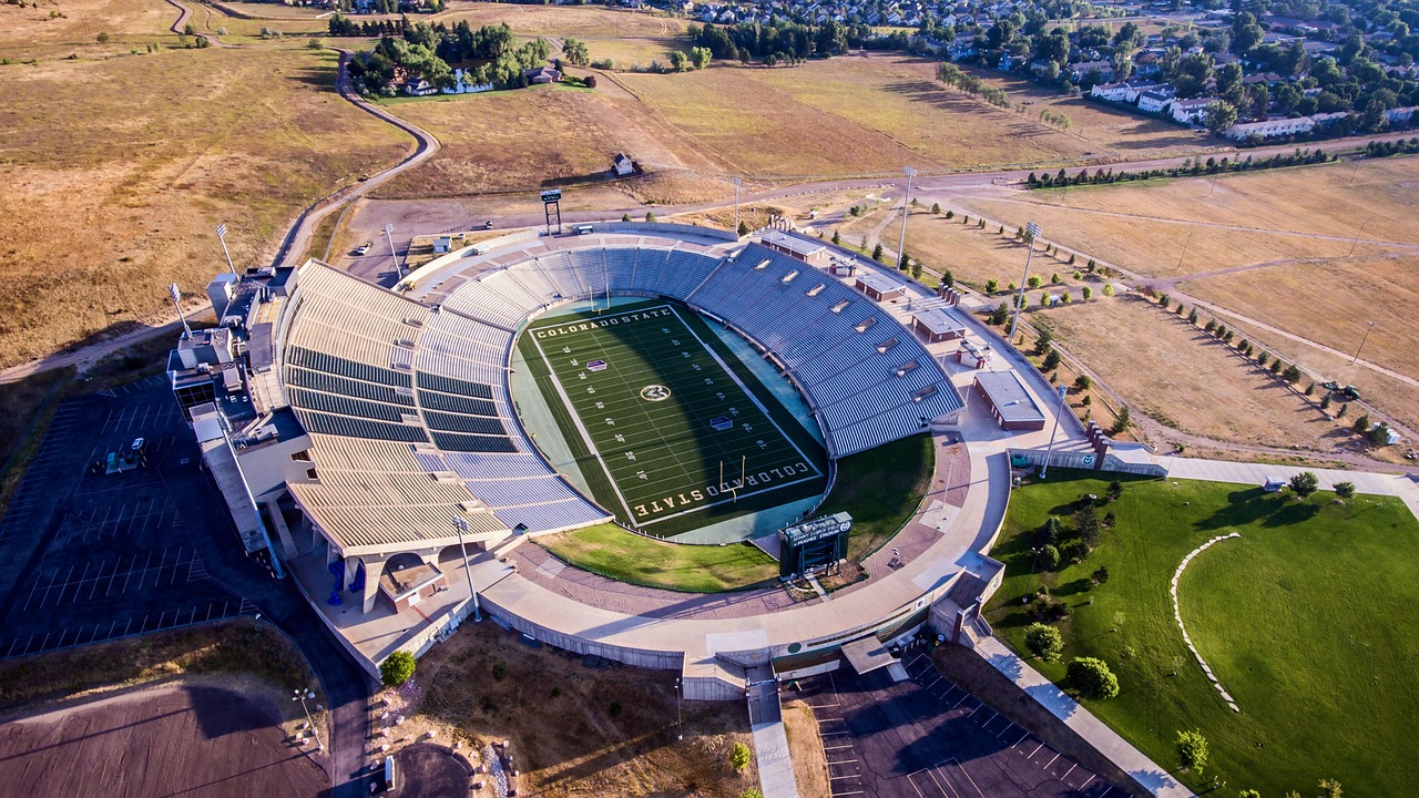
[[11, 794], [33, 798], [319, 795], [325, 771], [272, 703], [211, 686], [131, 692], [6, 723], [0, 757]]

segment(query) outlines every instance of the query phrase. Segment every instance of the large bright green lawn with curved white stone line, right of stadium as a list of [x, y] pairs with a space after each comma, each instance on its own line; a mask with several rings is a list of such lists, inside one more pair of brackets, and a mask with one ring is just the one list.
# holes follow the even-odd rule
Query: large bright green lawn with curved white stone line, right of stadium
[[[1212, 758], [1205, 778], [1183, 777], [1193, 787], [1216, 775], [1235, 789], [1280, 795], [1335, 778], [1354, 795], [1401, 795], [1419, 781], [1419, 765], [1402, 755], [1419, 709], [1419, 640], [1391, 611], [1419, 599], [1419, 524], [1399, 501], [1335, 504], [1321, 493], [1298, 503], [1247, 486], [1132, 479], [1100, 508], [1118, 524], [1086, 562], [1032, 572], [1034, 530], [1107, 487], [1091, 473], [1056, 473], [1015, 491], [992, 552], [1006, 581], [986, 616], [1012, 647], [1025, 650], [1022, 596], [1044, 585], [1073, 608], [1060, 623], [1064, 660], [1034, 659], [1034, 667], [1063, 680], [1070, 657], [1108, 662], [1121, 692], [1088, 709], [1162, 767], [1176, 765], [1176, 731], [1200, 728]], [[1181, 603], [1240, 714], [1183, 646], [1168, 595], [1182, 558], [1232, 531], [1242, 538], [1189, 565]], [[1110, 579], [1091, 588], [1101, 565]]]

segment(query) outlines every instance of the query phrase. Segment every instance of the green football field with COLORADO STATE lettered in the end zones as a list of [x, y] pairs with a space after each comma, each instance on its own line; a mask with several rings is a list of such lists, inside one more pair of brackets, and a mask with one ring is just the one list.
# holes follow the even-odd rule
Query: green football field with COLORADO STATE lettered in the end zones
[[692, 311], [670, 304], [526, 331], [552, 375], [548, 402], [570, 410], [575, 434], [610, 480], [613, 497], [599, 498], [646, 534], [697, 513], [792, 501], [823, 479], [817, 453], [780, 426], [793, 422], [775, 419], [705, 335]]

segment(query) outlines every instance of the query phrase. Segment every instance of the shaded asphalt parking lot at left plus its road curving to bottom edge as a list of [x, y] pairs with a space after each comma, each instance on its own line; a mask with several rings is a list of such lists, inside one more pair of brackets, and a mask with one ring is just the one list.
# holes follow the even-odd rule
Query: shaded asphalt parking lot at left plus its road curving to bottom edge
[[[92, 471], [135, 437], [145, 467]], [[333, 795], [366, 795], [370, 680], [289, 578], [245, 557], [200, 461], [162, 376], [62, 403], [0, 520], [0, 659], [260, 616], [321, 682]]]

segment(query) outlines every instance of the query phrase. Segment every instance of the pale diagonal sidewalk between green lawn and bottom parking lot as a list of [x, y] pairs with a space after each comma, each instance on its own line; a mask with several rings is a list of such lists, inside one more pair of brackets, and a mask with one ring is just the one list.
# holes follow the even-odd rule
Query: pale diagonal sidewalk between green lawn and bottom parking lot
[[1027, 696], [1040, 703], [1054, 717], [1064, 721], [1071, 730], [1093, 745], [1108, 761], [1118, 765], [1152, 795], [1158, 798], [1196, 798], [1186, 787], [1178, 784], [1172, 775], [1156, 763], [1134, 748], [1127, 740], [1112, 728], [1094, 717], [1088, 710], [1078, 706], [1074, 699], [1066, 696], [1049, 679], [1040, 676], [1037, 670], [1026, 665], [1020, 657], [1010, 653], [1000, 640], [983, 638], [976, 640], [975, 652], [981, 655], [992, 667], [1007, 676]]

